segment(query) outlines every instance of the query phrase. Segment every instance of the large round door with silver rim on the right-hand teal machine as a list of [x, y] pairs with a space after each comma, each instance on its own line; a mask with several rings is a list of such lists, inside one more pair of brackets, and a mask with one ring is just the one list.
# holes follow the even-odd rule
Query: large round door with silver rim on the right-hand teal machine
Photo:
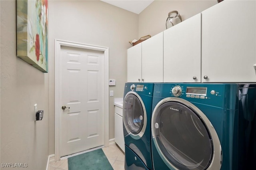
[[221, 167], [221, 147], [216, 131], [202, 111], [184, 99], [170, 97], [156, 105], [152, 136], [158, 154], [170, 169], [216, 170]]

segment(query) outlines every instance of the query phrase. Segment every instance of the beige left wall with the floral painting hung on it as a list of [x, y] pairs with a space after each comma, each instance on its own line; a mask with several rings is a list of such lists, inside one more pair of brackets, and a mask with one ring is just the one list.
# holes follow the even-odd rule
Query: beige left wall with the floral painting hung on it
[[[45, 170], [49, 155], [49, 75], [16, 57], [16, 1], [0, 1], [1, 163]], [[34, 104], [44, 110], [34, 121]], [[12, 170], [18, 168], [2, 168]]]

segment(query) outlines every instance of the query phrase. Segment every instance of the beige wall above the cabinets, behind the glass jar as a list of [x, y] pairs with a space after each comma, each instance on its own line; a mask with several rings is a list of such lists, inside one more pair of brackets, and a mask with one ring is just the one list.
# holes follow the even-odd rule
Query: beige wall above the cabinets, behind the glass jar
[[217, 0], [154, 0], [139, 14], [138, 38], [166, 30], [166, 19], [172, 10], [177, 10], [184, 21], [217, 3]]

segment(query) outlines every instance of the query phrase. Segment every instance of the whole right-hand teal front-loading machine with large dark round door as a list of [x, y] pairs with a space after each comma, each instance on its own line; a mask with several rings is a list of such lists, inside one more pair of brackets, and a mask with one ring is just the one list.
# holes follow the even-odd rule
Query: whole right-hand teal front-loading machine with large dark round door
[[256, 160], [256, 84], [156, 83], [154, 170], [246, 170]]

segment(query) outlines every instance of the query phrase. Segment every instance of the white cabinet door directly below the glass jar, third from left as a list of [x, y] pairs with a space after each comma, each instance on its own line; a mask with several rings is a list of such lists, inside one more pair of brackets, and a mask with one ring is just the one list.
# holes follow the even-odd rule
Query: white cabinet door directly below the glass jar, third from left
[[201, 82], [201, 13], [164, 31], [164, 82]]

